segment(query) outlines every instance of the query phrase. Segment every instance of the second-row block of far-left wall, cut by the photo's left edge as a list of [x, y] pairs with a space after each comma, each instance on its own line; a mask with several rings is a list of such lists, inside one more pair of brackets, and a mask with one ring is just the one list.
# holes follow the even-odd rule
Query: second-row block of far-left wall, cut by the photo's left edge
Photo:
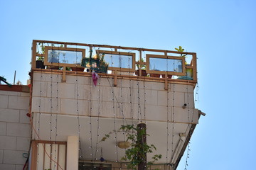
[[15, 109], [0, 108], [0, 121], [18, 123], [19, 111]]

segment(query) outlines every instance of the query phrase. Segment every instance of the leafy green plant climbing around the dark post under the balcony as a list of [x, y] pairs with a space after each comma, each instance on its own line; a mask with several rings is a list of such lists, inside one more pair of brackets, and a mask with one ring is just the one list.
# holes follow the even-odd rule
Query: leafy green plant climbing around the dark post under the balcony
[[[107, 140], [113, 132], [115, 131], [113, 130], [106, 134], [101, 141]], [[128, 169], [137, 169], [137, 166], [142, 164], [144, 159], [146, 159], [146, 154], [156, 150], [154, 145], [147, 145], [146, 142], [142, 142], [144, 137], [149, 136], [146, 134], [146, 129], [144, 128], [139, 128], [138, 126], [135, 127], [134, 125], [121, 125], [121, 128], [119, 128], [117, 132], [124, 132], [127, 139], [126, 141], [131, 143], [129, 149], [125, 150], [125, 156], [122, 157], [122, 161], [129, 162], [127, 164]], [[153, 161], [147, 162], [147, 164], [154, 164], [154, 162], [161, 159], [161, 157], [161, 154], [155, 154], [152, 157]]]

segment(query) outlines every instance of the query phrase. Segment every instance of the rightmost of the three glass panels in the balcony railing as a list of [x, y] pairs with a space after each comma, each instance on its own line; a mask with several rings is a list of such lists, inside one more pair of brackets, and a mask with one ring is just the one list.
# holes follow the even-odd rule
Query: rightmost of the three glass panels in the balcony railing
[[149, 70], [182, 72], [182, 60], [149, 57]]

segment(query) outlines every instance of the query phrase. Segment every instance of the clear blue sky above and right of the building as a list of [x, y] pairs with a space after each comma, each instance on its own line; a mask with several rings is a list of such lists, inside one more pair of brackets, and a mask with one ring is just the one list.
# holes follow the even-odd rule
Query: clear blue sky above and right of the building
[[[32, 40], [198, 55], [201, 117], [187, 169], [255, 169], [256, 2], [0, 1], [0, 76], [26, 84]], [[184, 160], [178, 170], [184, 169]]]

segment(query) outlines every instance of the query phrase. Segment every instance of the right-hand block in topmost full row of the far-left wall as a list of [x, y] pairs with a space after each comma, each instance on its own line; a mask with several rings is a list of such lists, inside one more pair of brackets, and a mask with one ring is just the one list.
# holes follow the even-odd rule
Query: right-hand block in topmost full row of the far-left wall
[[29, 97], [9, 96], [9, 108], [27, 109], [29, 107]]

